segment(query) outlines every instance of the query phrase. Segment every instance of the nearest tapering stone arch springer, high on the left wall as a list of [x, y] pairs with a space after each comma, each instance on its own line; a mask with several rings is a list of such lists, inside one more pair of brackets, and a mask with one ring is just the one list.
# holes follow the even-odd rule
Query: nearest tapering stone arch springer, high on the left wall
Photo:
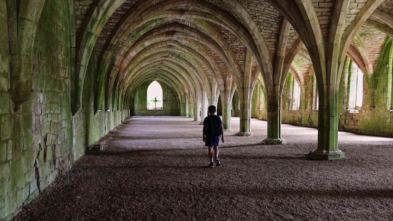
[[[31, 96], [33, 46], [45, 0], [8, 1], [9, 60], [11, 99], [14, 109]], [[5, 23], [6, 24], [6, 23]]]

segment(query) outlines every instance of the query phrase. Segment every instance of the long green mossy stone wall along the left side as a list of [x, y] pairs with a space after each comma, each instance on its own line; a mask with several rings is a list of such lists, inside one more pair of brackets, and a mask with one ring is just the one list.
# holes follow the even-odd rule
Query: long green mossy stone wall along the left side
[[129, 113], [94, 112], [93, 90], [88, 88], [93, 85], [90, 68], [83, 108], [72, 116], [69, 2], [72, 4], [47, 1], [44, 6], [34, 41], [31, 96], [17, 111], [9, 92], [7, 7], [4, 1], [0, 3], [1, 221], [10, 220], [56, 177], [66, 173], [88, 145], [114, 129]]

